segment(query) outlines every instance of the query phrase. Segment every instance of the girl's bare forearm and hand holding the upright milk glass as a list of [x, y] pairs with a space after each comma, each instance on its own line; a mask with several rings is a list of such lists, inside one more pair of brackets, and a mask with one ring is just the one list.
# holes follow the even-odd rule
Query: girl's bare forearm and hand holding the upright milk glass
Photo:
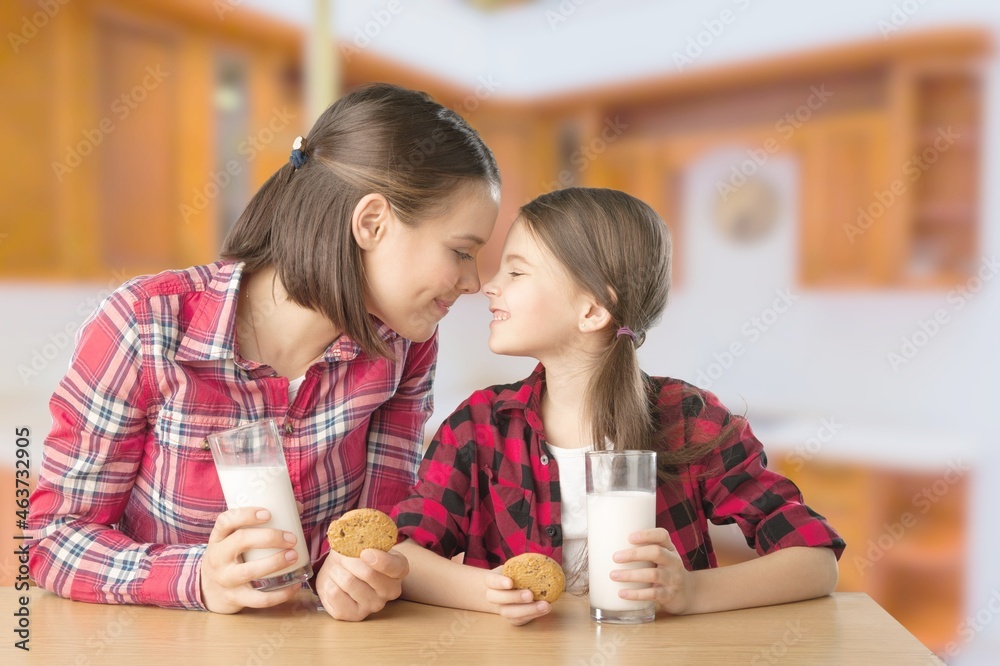
[[837, 559], [829, 548], [783, 548], [731, 566], [687, 571], [666, 530], [635, 532], [630, 540], [636, 547], [619, 551], [615, 561], [656, 566], [612, 572], [614, 580], [650, 583], [620, 596], [654, 600], [657, 610], [674, 615], [801, 601], [830, 594], [837, 586]]

